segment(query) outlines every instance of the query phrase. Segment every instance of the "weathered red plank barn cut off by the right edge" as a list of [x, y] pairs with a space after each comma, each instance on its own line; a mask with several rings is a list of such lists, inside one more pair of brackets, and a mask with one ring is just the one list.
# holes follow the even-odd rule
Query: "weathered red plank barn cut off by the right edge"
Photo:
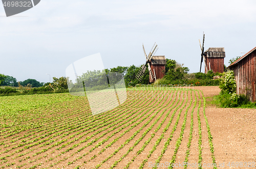
[[256, 47], [227, 68], [234, 71], [237, 93], [248, 95], [250, 101], [254, 102], [256, 94]]

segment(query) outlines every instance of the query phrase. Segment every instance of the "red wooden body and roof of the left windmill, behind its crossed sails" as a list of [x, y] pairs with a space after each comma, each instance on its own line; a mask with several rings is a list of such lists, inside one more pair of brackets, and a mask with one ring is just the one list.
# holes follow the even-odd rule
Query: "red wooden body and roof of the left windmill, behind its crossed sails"
[[[153, 76], [156, 77], [156, 79], [162, 79], [165, 75], [165, 65], [166, 65], [166, 59], [165, 56], [153, 56], [150, 62], [150, 67], [152, 70]], [[154, 82], [155, 79], [151, 77], [150, 74], [150, 83]]]

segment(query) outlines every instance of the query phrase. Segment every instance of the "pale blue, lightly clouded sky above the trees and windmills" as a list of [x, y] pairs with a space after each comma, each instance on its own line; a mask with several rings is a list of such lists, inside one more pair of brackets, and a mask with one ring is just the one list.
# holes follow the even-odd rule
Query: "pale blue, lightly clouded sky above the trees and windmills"
[[155, 42], [155, 55], [196, 73], [203, 32], [205, 50], [224, 47], [228, 66], [229, 59], [256, 46], [255, 9], [255, 0], [41, 0], [6, 17], [0, 5], [0, 74], [49, 82], [65, 77], [73, 62], [97, 53], [104, 68], [140, 66], [146, 61], [142, 43], [148, 54]]

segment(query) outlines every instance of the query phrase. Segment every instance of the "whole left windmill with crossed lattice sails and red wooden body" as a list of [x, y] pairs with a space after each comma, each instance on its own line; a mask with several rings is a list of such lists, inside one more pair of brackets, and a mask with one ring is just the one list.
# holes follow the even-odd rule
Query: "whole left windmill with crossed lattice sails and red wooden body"
[[157, 79], [161, 79], [164, 77], [164, 71], [165, 71], [165, 64], [166, 59], [165, 56], [154, 56], [156, 51], [158, 50], [157, 44], [155, 43], [150, 51], [150, 54], [146, 55], [144, 45], [143, 51], [146, 58], [146, 63], [141, 66], [138, 74], [136, 75], [136, 78], [141, 81], [145, 70], [146, 70], [146, 64], [148, 65], [148, 71], [150, 73], [150, 83], [155, 82]]

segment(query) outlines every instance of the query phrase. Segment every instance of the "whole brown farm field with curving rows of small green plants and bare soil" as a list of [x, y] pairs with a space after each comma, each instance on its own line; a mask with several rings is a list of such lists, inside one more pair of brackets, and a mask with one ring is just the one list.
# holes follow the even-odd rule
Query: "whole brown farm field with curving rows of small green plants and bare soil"
[[229, 168], [219, 164], [256, 162], [255, 110], [242, 109], [248, 120], [240, 109], [206, 108], [205, 97], [218, 92], [211, 86], [127, 89], [123, 104], [96, 115], [86, 98], [68, 93], [1, 97], [0, 166]]

